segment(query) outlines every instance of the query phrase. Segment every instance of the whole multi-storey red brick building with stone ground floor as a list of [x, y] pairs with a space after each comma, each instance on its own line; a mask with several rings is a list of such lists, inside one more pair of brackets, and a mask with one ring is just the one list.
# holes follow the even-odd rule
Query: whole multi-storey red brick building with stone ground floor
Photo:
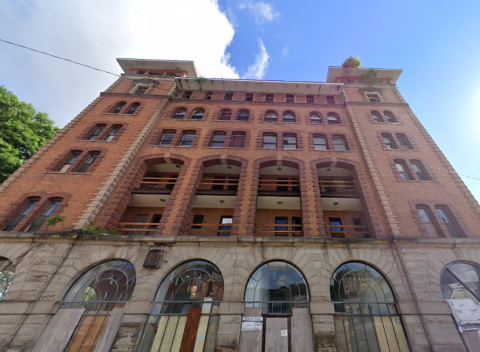
[[474, 350], [480, 207], [401, 70], [118, 62], [0, 186], [1, 351]]

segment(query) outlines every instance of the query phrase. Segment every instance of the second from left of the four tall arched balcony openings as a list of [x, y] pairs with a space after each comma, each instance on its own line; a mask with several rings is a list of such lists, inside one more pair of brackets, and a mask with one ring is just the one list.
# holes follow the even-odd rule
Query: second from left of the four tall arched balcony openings
[[[185, 234], [192, 236], [234, 236], [238, 224], [236, 209], [241, 200], [246, 161], [212, 157], [201, 162], [192, 209], [187, 214]], [[243, 175], [243, 177], [242, 177]]]

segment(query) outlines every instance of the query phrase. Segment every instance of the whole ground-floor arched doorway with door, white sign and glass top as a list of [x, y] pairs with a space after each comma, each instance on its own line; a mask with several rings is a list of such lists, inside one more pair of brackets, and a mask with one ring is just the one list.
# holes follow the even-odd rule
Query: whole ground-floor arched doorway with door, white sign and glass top
[[241, 352], [313, 352], [310, 294], [292, 264], [271, 261], [250, 276], [245, 288]]

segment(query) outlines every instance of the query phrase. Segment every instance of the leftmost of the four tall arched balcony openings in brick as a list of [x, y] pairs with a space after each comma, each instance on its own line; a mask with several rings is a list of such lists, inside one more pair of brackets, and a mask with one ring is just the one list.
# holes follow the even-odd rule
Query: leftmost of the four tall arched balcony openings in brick
[[183, 164], [183, 160], [174, 157], [157, 157], [144, 162], [143, 176], [133, 185], [128, 206], [118, 223], [120, 232], [137, 236], [155, 234], [183, 174]]

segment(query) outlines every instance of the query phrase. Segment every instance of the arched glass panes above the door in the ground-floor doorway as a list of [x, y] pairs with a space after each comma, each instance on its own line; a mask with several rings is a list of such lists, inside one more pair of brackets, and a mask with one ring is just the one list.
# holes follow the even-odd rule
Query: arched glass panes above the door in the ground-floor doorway
[[263, 308], [264, 314], [291, 314], [310, 301], [302, 273], [286, 262], [263, 264], [250, 276], [245, 288], [245, 308]]

